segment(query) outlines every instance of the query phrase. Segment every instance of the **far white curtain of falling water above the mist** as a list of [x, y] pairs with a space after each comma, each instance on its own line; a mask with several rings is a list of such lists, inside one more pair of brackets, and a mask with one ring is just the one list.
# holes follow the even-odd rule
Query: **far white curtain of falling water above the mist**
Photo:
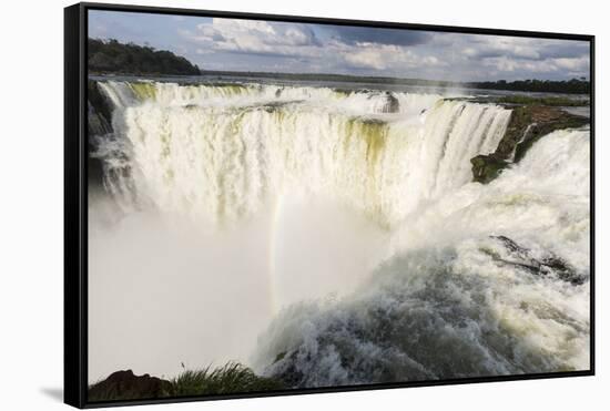
[[215, 223], [252, 216], [298, 191], [392, 226], [468, 182], [469, 160], [496, 148], [510, 116], [500, 106], [428, 94], [99, 84], [116, 107], [116, 133], [129, 141], [121, 153], [104, 148], [116, 148], [104, 138], [100, 152], [130, 158], [139, 175], [133, 184], [126, 173], [111, 175], [112, 189], [133, 198], [124, 191], [134, 186], [164, 212]]

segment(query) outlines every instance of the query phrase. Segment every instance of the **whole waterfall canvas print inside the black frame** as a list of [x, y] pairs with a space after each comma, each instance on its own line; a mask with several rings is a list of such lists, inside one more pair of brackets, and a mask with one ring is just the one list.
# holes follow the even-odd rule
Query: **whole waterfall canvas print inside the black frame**
[[89, 401], [590, 369], [590, 42], [88, 12]]

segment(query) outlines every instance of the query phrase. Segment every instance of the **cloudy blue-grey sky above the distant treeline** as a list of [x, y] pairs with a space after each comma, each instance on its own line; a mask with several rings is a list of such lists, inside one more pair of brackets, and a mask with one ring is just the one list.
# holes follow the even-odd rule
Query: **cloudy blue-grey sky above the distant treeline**
[[89, 11], [89, 37], [148, 44], [203, 70], [448, 81], [589, 78], [589, 43], [334, 24]]

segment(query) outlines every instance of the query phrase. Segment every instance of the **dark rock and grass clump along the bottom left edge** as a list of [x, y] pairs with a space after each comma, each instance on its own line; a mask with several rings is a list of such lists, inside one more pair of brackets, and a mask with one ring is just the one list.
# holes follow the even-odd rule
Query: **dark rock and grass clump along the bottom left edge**
[[149, 374], [134, 376], [131, 370], [116, 371], [89, 387], [91, 402], [156, 399], [185, 395], [222, 395], [273, 391], [286, 388], [282, 381], [258, 377], [238, 362], [211, 370], [185, 370], [167, 381]]

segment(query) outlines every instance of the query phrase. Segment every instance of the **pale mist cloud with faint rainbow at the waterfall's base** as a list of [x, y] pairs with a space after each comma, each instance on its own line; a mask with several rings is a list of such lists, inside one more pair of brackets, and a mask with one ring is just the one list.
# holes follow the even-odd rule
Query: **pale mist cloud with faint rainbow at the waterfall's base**
[[343, 207], [285, 196], [228, 229], [90, 199], [89, 379], [171, 378], [250, 363], [292, 302], [340, 298], [375, 265], [383, 230]]

